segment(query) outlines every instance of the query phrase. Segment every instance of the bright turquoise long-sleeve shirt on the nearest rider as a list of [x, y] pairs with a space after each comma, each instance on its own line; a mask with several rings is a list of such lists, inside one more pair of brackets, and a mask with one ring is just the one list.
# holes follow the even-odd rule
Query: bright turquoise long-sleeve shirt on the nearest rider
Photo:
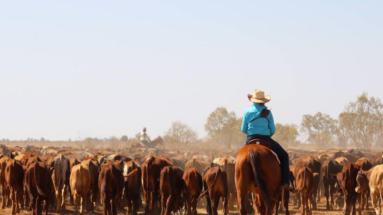
[[[247, 135], [265, 135], [272, 136], [275, 134], [275, 125], [273, 114], [270, 112], [266, 118], [259, 118], [254, 121], [252, 119], [257, 118], [266, 106], [261, 106], [258, 103], [254, 103], [250, 108], [247, 108], [243, 115], [242, 132]], [[252, 122], [250, 122], [252, 121]], [[250, 123], [249, 123], [250, 122]]]

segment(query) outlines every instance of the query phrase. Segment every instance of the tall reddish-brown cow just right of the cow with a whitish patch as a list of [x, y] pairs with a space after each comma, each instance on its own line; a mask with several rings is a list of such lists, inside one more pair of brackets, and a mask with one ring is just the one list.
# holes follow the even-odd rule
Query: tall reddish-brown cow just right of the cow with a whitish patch
[[154, 215], [160, 194], [160, 174], [165, 166], [173, 164], [165, 158], [151, 156], [142, 164], [142, 188], [145, 198], [145, 214]]

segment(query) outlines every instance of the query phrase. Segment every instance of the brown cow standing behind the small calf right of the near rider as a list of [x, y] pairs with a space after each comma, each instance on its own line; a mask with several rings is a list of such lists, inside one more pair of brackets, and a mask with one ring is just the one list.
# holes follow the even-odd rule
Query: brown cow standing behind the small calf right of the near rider
[[[318, 159], [318, 160], [316, 160]], [[298, 175], [298, 171], [302, 167], [307, 167], [311, 169], [312, 173], [321, 173], [321, 162], [319, 161], [319, 158], [314, 158], [311, 155], [307, 155], [301, 158], [298, 158], [298, 160], [295, 162], [295, 173], [294, 175]], [[314, 192], [313, 192], [313, 198], [316, 199], [317, 193], [318, 193], [318, 185], [319, 185], [319, 177], [314, 177]], [[313, 204], [313, 210], [316, 210], [316, 201], [312, 202]]]

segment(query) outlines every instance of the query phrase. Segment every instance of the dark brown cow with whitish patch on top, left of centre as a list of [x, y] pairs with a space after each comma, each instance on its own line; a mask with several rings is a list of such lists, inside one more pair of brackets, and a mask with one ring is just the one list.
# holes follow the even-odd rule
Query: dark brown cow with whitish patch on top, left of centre
[[[138, 161], [124, 162], [124, 187], [126, 199], [128, 200], [128, 210], [126, 214], [137, 214], [140, 192], [142, 186], [142, 171]], [[133, 202], [133, 209], [132, 209]]]

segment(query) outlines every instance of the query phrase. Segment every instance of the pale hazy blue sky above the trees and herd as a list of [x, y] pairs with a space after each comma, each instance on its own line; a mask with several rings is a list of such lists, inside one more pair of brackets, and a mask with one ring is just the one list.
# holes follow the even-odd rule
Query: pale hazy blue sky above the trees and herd
[[[5, 1], [0, 138], [205, 135], [256, 88], [275, 122], [383, 99], [382, 1]], [[240, 129], [240, 128], [238, 128]]]

